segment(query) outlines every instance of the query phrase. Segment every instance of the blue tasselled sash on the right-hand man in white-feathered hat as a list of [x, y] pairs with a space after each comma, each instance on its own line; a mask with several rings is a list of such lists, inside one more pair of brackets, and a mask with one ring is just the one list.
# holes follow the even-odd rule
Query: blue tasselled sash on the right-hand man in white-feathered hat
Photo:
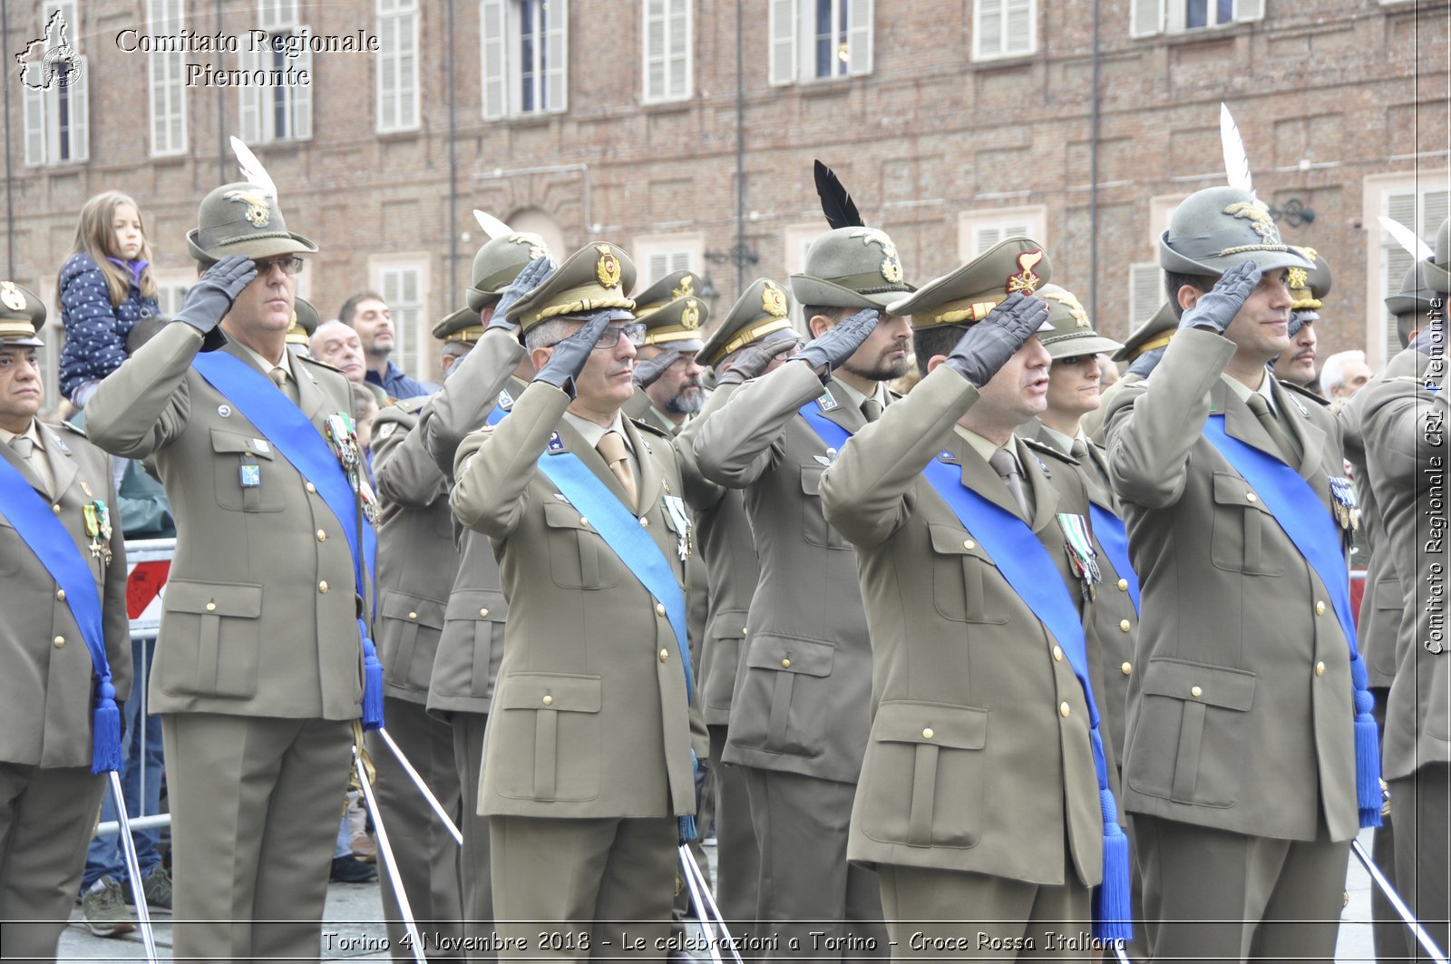
[[1325, 584], [1335, 607], [1335, 618], [1345, 634], [1351, 656], [1351, 682], [1355, 687], [1355, 800], [1360, 825], [1380, 826], [1380, 738], [1371, 710], [1365, 661], [1355, 646], [1355, 617], [1351, 613], [1349, 566], [1341, 549], [1341, 528], [1320, 502], [1320, 497], [1300, 473], [1274, 456], [1244, 443], [1225, 431], [1225, 417], [1210, 415], [1204, 437], [1258, 494], [1294, 547]]

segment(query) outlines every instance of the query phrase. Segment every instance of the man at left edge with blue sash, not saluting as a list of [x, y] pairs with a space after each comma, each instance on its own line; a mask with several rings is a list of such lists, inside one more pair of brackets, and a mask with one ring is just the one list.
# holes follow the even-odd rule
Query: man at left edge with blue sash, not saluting
[[[0, 945], [55, 960], [131, 695], [110, 459], [45, 399], [45, 306], [0, 282]], [[109, 719], [106, 719], [109, 717]]]

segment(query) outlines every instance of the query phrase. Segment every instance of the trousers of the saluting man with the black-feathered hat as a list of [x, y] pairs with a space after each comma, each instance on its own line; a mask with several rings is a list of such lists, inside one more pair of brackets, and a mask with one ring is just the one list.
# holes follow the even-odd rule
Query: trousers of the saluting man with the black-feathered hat
[[[760, 845], [756, 925], [749, 934], [775, 948], [762, 951], [762, 958], [887, 957], [876, 874], [846, 862], [856, 784], [741, 769]], [[824, 936], [813, 938], [813, 931]]]

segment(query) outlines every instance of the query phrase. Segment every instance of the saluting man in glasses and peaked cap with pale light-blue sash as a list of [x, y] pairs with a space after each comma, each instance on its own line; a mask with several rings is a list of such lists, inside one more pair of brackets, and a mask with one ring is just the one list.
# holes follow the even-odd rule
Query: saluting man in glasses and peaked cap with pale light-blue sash
[[537, 375], [456, 460], [450, 504], [493, 542], [509, 598], [479, 790], [501, 957], [662, 958], [694, 833], [691, 533], [669, 440], [620, 411], [633, 282], [596, 242], [509, 306]]

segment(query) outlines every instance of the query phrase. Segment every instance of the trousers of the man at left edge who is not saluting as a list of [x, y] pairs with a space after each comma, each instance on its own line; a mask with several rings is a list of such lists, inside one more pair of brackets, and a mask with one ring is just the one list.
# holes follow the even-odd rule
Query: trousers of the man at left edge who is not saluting
[[106, 777], [0, 762], [0, 954], [55, 960]]

